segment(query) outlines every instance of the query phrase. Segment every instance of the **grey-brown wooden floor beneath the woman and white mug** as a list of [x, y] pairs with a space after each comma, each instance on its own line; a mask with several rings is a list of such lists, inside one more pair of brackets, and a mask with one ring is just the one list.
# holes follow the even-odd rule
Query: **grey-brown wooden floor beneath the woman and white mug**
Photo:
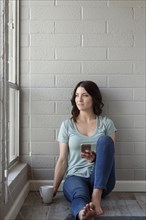
[[[113, 192], [102, 200], [104, 215], [96, 219], [146, 219], [146, 193]], [[68, 216], [68, 217], [67, 217]], [[39, 192], [30, 192], [16, 220], [73, 220], [70, 203], [62, 192], [51, 205], [42, 203]]]

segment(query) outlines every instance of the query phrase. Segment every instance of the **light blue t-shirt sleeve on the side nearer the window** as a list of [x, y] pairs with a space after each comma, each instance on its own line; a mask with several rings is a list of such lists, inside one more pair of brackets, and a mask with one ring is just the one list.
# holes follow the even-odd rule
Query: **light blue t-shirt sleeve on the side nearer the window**
[[60, 126], [60, 130], [59, 130], [59, 134], [58, 134], [58, 138], [57, 138], [57, 140], [59, 142], [67, 143], [68, 140], [69, 140], [68, 126], [67, 125], [68, 125], [68, 122], [66, 120], [66, 121], [63, 121], [61, 126]]

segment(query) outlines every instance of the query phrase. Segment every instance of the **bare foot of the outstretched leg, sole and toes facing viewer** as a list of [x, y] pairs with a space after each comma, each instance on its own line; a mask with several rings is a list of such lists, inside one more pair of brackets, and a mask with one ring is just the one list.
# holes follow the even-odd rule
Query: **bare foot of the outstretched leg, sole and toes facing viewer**
[[95, 206], [92, 202], [87, 204], [78, 214], [79, 220], [90, 220], [96, 216]]

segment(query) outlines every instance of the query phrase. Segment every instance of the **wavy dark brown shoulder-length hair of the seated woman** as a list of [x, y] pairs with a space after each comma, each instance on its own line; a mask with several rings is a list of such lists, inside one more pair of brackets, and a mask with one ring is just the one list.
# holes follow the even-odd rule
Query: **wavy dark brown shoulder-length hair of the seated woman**
[[89, 95], [91, 95], [92, 100], [93, 100], [94, 114], [100, 115], [102, 113], [102, 108], [104, 106], [104, 104], [102, 102], [101, 92], [100, 92], [98, 86], [96, 85], [96, 83], [89, 81], [89, 80], [86, 80], [86, 81], [79, 82], [73, 91], [73, 95], [71, 98], [71, 104], [72, 104], [71, 114], [72, 114], [73, 120], [76, 121], [76, 118], [80, 112], [76, 106], [76, 103], [75, 103], [76, 90], [78, 87], [83, 87], [87, 91], [87, 93]]

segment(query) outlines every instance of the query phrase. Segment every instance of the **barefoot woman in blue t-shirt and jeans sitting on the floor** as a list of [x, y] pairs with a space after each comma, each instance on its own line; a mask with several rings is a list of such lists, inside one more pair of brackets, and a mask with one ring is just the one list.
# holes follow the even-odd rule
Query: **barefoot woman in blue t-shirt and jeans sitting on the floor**
[[[54, 195], [64, 178], [63, 192], [75, 219], [103, 214], [101, 198], [115, 185], [114, 143], [116, 128], [101, 116], [102, 96], [92, 81], [81, 81], [71, 98], [72, 117], [62, 122], [58, 135], [60, 155], [55, 168]], [[81, 144], [91, 150], [81, 151]]]

